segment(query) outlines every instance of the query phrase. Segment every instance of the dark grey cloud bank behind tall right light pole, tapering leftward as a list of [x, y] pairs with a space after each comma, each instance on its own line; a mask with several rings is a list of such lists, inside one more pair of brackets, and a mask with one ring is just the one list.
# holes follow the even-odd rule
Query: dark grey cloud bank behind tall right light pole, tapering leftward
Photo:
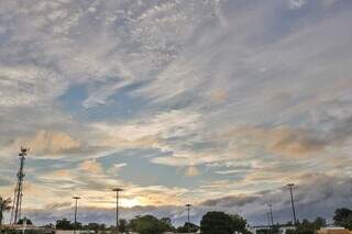
[[[300, 177], [300, 181], [294, 188], [298, 219], [315, 219], [321, 215], [331, 220], [337, 208], [350, 205], [346, 194], [352, 192], [351, 178], [326, 174], [306, 174]], [[273, 204], [276, 222], [292, 220], [290, 197], [284, 187], [248, 196], [209, 199], [200, 204], [208, 205], [209, 210], [241, 212], [252, 223], [265, 223], [268, 203]]]

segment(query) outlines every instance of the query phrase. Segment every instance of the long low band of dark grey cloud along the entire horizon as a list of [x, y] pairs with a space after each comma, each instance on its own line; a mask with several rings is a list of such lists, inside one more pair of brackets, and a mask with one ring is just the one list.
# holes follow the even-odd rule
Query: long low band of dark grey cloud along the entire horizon
[[[297, 216], [301, 219], [315, 219], [320, 215], [331, 220], [337, 208], [349, 207], [348, 194], [352, 193], [352, 179], [345, 177], [328, 176], [326, 174], [307, 174], [301, 176], [301, 182], [294, 188], [294, 198], [297, 208]], [[191, 220], [199, 222], [207, 211], [221, 210], [229, 213], [243, 215], [251, 224], [266, 223], [265, 213], [267, 204], [273, 204], [275, 222], [287, 222], [292, 220], [290, 197], [288, 189], [277, 188], [265, 190], [254, 194], [226, 196], [218, 199], [208, 199], [199, 204], [194, 204]], [[55, 222], [58, 219], [73, 219], [73, 209], [68, 203], [55, 203], [44, 209], [26, 210], [25, 215], [30, 216], [37, 224]], [[121, 215], [124, 219], [132, 219], [136, 215], [153, 214], [158, 218], [168, 216], [176, 225], [186, 221], [184, 207], [177, 205], [146, 205], [121, 208]], [[79, 221], [105, 222], [112, 224], [114, 209], [98, 207], [81, 207], [78, 211]]]

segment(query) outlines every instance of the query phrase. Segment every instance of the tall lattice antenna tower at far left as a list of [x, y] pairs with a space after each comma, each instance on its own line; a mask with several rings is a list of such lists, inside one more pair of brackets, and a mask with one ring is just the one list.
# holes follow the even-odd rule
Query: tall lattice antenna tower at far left
[[22, 197], [23, 197], [23, 179], [24, 179], [24, 160], [26, 153], [30, 151], [30, 148], [21, 146], [21, 152], [19, 153], [20, 157], [20, 169], [18, 172], [18, 182], [14, 189], [14, 196], [13, 196], [13, 205], [11, 211], [11, 224], [16, 224], [19, 220], [21, 219], [21, 211], [22, 211]]

